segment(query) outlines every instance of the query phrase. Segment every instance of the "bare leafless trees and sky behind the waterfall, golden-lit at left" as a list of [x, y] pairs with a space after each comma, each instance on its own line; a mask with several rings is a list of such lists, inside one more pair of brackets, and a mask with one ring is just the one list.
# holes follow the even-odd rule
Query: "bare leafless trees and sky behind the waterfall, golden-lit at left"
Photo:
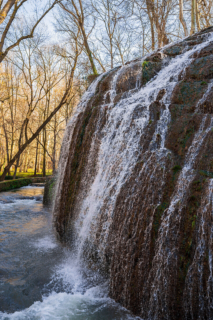
[[212, 4], [1, 0], [1, 181], [28, 170], [54, 174], [65, 126], [91, 79], [209, 27]]

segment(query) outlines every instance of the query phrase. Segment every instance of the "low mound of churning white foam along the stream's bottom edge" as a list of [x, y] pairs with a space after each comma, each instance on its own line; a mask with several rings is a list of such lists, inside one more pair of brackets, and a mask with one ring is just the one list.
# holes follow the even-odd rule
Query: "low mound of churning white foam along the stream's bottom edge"
[[[102, 296], [97, 287], [90, 288], [84, 294], [66, 292], [52, 292], [43, 301], [37, 301], [23, 311], [13, 314], [0, 313], [1, 320], [97, 320], [135, 319], [127, 314], [127, 310], [119, 307], [110, 298]], [[109, 309], [109, 311], [106, 311]], [[123, 316], [119, 316], [119, 313]], [[126, 313], [126, 315], [125, 315]], [[113, 316], [114, 317], [111, 317]], [[137, 317], [137, 319], [139, 319]]]

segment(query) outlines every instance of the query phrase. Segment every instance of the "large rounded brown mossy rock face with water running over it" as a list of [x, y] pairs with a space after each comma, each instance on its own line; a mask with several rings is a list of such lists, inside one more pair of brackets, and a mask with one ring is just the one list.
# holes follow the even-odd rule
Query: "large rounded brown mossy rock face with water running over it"
[[213, 318], [213, 28], [98, 79], [74, 122], [58, 239], [143, 319]]

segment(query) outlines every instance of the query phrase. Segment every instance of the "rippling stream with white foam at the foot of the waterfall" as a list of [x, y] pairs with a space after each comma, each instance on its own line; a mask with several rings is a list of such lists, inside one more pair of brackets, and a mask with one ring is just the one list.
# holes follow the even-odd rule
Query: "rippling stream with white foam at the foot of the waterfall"
[[0, 319], [135, 319], [55, 242], [42, 187], [0, 193]]

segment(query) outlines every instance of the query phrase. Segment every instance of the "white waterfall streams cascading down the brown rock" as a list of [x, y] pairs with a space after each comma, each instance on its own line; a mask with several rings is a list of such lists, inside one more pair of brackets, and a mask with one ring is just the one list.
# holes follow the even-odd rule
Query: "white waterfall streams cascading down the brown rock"
[[[177, 85], [184, 81], [187, 68], [193, 63], [195, 56], [201, 54], [202, 50], [213, 41], [213, 33], [201, 34], [201, 38], [201, 43], [185, 46], [185, 49], [175, 57], [166, 56], [165, 53], [170, 48], [169, 46], [161, 49], [160, 53], [164, 54], [165, 58], [160, 71], [156, 72], [145, 84], [141, 80], [141, 75], [147, 61], [152, 58], [151, 54], [99, 76], [86, 92], [76, 115], [68, 124], [62, 144], [54, 220], [57, 224], [59, 211], [65, 221], [61, 229], [69, 229], [68, 226], [72, 224], [71, 231], [66, 231], [66, 234], [68, 237], [70, 234], [73, 235], [72, 250], [75, 252], [73, 258], [75, 264], [82, 269], [88, 265], [92, 269], [96, 268], [98, 274], [109, 275], [110, 272], [110, 292], [113, 297], [120, 294], [117, 292], [118, 282], [122, 281], [119, 280], [119, 277], [120, 279], [125, 278], [126, 281], [118, 300], [129, 308], [131, 307], [129, 293], [131, 274], [138, 272], [137, 275], [141, 275], [143, 279], [141, 281], [146, 284], [146, 289], [149, 291], [149, 294], [146, 295], [143, 292], [144, 289], [141, 288], [143, 293], [140, 296], [140, 315], [148, 319], [157, 319], [159, 310], [162, 310], [165, 315], [171, 308], [168, 297], [171, 283], [175, 281], [173, 277], [177, 276], [176, 271], [174, 276], [172, 268], [178, 269], [178, 257], [182, 250], [180, 250], [179, 242], [183, 237], [181, 226], [187, 220], [184, 212], [191, 201], [190, 188], [198, 174], [197, 161], [200, 159], [202, 148], [213, 127], [212, 116], [199, 114], [201, 104], [208, 98], [212, 90], [212, 81], [210, 81], [207, 90], [196, 101], [195, 117], [198, 129], [192, 132], [189, 138], [191, 142], [190, 146], [185, 149], [187, 151], [184, 151], [184, 159], [182, 160], [180, 156], [178, 158], [175, 151], [168, 147], [169, 130], [172, 126], [170, 106], [173, 103], [174, 92]], [[180, 45], [180, 42], [175, 45]], [[128, 74], [133, 73], [132, 70], [135, 70], [134, 87], [128, 92], [122, 92], [120, 89], [122, 81], [126, 81]], [[110, 79], [108, 80], [110, 85], [104, 91], [102, 86], [106, 86], [104, 83], [106, 78]], [[101, 90], [104, 91], [102, 96]], [[79, 189], [78, 192], [75, 191], [77, 200], [72, 206], [72, 213], [70, 211], [69, 217], [66, 218], [63, 210], [67, 210], [70, 198], [66, 197], [66, 200], [63, 198], [62, 189], [66, 189], [67, 193], [71, 191], [69, 173], [68, 178], [64, 174], [70, 171], [69, 161], [74, 161], [72, 160], [75, 157], [74, 152], [77, 152], [70, 151], [70, 143], [76, 148], [75, 141], [80, 136], [80, 132], [83, 132], [79, 129], [82, 128], [84, 119], [82, 114], [88, 106], [91, 106], [91, 113], [93, 112], [98, 94], [102, 98], [98, 100], [97, 119], [87, 154], [87, 162], [84, 166], [82, 165], [83, 174], [79, 179], [81, 188], [79, 188], [80, 191]], [[85, 113], [84, 117], [87, 116], [87, 111]], [[72, 132], [78, 121], [80, 125], [74, 137]], [[88, 135], [87, 140], [90, 139], [89, 137]], [[71, 160], [68, 161], [68, 158]], [[169, 171], [168, 168], [172, 168], [177, 159], [179, 162], [182, 161], [182, 165], [177, 166], [178, 172], [174, 171], [172, 178], [172, 171]], [[75, 169], [75, 172], [77, 170]], [[168, 187], [169, 179], [172, 186]], [[183, 268], [187, 271], [184, 281], [188, 285], [188, 291], [185, 288], [182, 290], [181, 287], [180, 294], [185, 296], [185, 313], [190, 316], [194, 312], [187, 310], [189, 305], [193, 305], [193, 302], [190, 301], [194, 292], [191, 275], [196, 272], [200, 277], [198, 294], [202, 300], [203, 262], [201, 268], [197, 268], [197, 263], [204, 259], [205, 250], [208, 250], [209, 266], [206, 299], [209, 299], [209, 305], [212, 303], [212, 251], [210, 246], [212, 245], [213, 228], [209, 231], [209, 226], [206, 225], [206, 215], [209, 215], [212, 221], [212, 179], [208, 183], [209, 187], [203, 192], [201, 198], [201, 213], [199, 214], [201, 222], [199, 222], [199, 228], [196, 227], [195, 230], [197, 248], [194, 260], [189, 269], [187, 269], [188, 266], [185, 267], [185, 262], [181, 262], [181, 266], [184, 265]], [[169, 191], [169, 195], [166, 195], [167, 188], [172, 190]], [[164, 200], [166, 197], [167, 201]], [[193, 217], [189, 217], [189, 222], [187, 222], [187, 226], [191, 228], [190, 236], [188, 236], [190, 248], [193, 237], [191, 234], [195, 220], [198, 220], [197, 216]], [[193, 227], [191, 227], [192, 224]], [[210, 240], [207, 240], [205, 236], [207, 228], [210, 232], [208, 234]], [[154, 240], [151, 239], [151, 235], [154, 235]], [[140, 242], [139, 257], [135, 253], [137, 249], [134, 249], [135, 251], [132, 249], [134, 245], [137, 246], [138, 242]], [[130, 252], [133, 252], [132, 261], [135, 261], [137, 271], [135, 267], [129, 265]], [[181, 272], [184, 273], [182, 269]], [[122, 272], [122, 276], [119, 275], [119, 272]], [[137, 295], [139, 299], [140, 292], [131, 294]], [[134, 311], [133, 307], [132, 310]], [[203, 309], [200, 311], [200, 316], [202, 315]]]

